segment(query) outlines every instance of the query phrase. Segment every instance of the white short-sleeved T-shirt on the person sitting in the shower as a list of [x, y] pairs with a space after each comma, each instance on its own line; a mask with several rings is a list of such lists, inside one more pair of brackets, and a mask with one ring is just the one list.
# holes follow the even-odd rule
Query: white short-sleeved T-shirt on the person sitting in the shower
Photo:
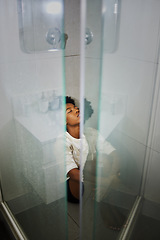
[[[93, 128], [87, 128], [85, 130], [85, 135], [82, 136], [82, 139], [74, 138], [68, 132], [65, 133], [65, 137], [65, 141], [64, 137], [62, 136], [57, 139], [54, 145], [54, 154], [57, 163], [60, 163], [65, 159], [65, 172], [67, 179], [69, 179], [67, 176], [68, 172], [74, 168], [81, 168], [83, 173], [87, 156], [89, 160], [93, 160], [97, 151], [97, 146], [99, 152], [107, 155], [115, 150], [115, 148], [109, 142], [107, 142], [96, 129]], [[65, 151], [63, 150], [64, 144], [66, 146]], [[80, 155], [81, 147], [82, 159]], [[83, 175], [81, 181], [83, 181]]]

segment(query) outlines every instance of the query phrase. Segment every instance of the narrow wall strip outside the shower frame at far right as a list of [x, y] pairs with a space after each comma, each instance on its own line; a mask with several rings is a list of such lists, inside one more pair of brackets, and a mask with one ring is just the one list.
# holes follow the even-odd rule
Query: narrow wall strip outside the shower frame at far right
[[145, 186], [145, 198], [160, 203], [159, 183], [160, 183], [160, 65], [157, 62], [158, 73], [155, 86], [155, 97], [153, 105], [153, 114], [151, 121], [151, 131], [149, 138], [149, 147], [147, 160], [149, 162], [147, 169], [147, 178]]

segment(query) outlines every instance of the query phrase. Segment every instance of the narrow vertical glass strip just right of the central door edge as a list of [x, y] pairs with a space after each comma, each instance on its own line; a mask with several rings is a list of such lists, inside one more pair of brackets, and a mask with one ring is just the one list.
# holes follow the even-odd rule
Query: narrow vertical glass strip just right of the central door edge
[[[82, 198], [82, 239], [95, 238], [96, 144], [98, 138], [98, 107], [101, 76], [102, 2], [88, 0], [86, 29], [93, 34], [85, 47], [84, 135], [88, 142], [88, 157], [84, 167], [84, 195]], [[100, 239], [100, 238], [97, 238]]]

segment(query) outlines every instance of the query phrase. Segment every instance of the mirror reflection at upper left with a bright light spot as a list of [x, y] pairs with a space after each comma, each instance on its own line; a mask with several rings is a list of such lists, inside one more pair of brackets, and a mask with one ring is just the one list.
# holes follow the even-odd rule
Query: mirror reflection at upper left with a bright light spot
[[21, 49], [56, 51], [64, 48], [62, 0], [17, 0]]

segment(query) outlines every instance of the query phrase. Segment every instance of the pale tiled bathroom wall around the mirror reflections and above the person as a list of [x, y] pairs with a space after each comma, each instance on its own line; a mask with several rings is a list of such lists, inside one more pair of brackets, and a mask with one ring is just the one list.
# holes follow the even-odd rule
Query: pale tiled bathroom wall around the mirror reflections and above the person
[[[113, 132], [111, 140], [113, 143], [117, 143], [117, 146], [121, 143], [124, 148], [121, 155], [126, 162], [131, 161], [132, 156], [133, 167], [138, 171], [138, 181], [140, 181], [146, 149], [149, 150], [145, 196], [157, 202], [160, 201], [158, 196], [160, 180], [158, 174], [160, 166], [159, 73], [156, 78], [157, 66], [159, 66], [157, 55], [159, 9], [160, 2], [156, 0], [141, 2], [121, 0], [117, 50], [110, 54], [104, 51], [102, 75], [102, 94], [105, 95], [110, 91], [127, 96], [126, 117]], [[85, 96], [92, 102], [94, 108], [94, 115], [89, 120], [89, 126], [97, 127], [97, 98], [99, 96], [101, 62], [101, 1], [88, 0], [87, 14], [86, 26], [93, 32], [94, 37], [93, 42], [86, 46]], [[20, 181], [14, 181], [15, 176], [12, 171], [16, 166], [17, 153], [13, 150], [16, 136], [12, 121], [11, 96], [55, 87], [59, 89], [63, 70], [61, 52], [25, 54], [21, 51], [16, 1], [0, 1], [0, 29], [2, 36], [0, 38], [1, 142], [4, 142], [2, 141], [3, 136], [9, 136], [5, 144], [7, 158], [5, 158], [4, 148], [1, 151], [4, 159], [1, 166], [6, 170], [1, 173], [1, 177], [4, 184], [7, 185], [8, 181], [12, 183], [7, 185], [10, 188], [8, 191], [10, 195], [7, 198], [10, 199], [14, 197], [14, 194], [20, 195], [23, 192]], [[65, 50], [66, 94], [76, 98], [79, 98], [79, 29], [80, 1], [65, 0], [65, 32], [68, 34]], [[104, 78], [105, 81], [103, 81]], [[154, 106], [152, 107], [153, 96]], [[155, 111], [156, 109], [157, 111]], [[152, 110], [154, 110], [153, 113]], [[149, 134], [151, 113], [153, 114], [153, 126], [151, 126]], [[3, 146], [1, 144], [1, 150]], [[127, 156], [125, 152], [128, 152]], [[18, 177], [16, 176], [16, 178]], [[17, 182], [19, 186], [17, 186]]]

